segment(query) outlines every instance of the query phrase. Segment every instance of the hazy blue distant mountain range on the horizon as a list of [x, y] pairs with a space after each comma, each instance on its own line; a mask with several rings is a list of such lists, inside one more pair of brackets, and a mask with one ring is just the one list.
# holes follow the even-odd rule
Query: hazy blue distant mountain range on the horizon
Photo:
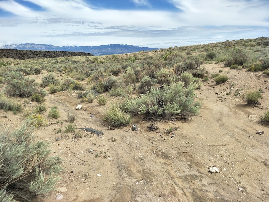
[[34, 43], [23, 43], [23, 44], [12, 44], [12, 45], [1, 45], [0, 48], [4, 49], [17, 49], [17, 50], [49, 50], [49, 51], [74, 51], [91, 53], [94, 55], [111, 55], [111, 54], [122, 54], [122, 53], [133, 53], [139, 51], [151, 51], [158, 50], [159, 48], [139, 47], [132, 45], [121, 45], [121, 44], [110, 44], [102, 46], [53, 46], [47, 44], [34, 44]]

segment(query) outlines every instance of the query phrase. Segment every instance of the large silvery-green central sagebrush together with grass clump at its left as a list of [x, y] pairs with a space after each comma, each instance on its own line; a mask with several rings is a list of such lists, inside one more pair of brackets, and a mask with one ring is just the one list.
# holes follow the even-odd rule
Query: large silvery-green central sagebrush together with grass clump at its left
[[132, 115], [144, 114], [146, 119], [189, 119], [200, 113], [201, 102], [194, 102], [197, 83], [186, 88], [182, 82], [165, 83], [141, 97], [116, 102], [106, 112], [104, 120], [114, 126], [126, 126]]

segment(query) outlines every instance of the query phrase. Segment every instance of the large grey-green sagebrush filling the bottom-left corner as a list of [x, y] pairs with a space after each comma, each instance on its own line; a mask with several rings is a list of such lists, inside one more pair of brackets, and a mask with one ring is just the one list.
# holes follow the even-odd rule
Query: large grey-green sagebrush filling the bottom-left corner
[[0, 133], [1, 201], [32, 201], [54, 189], [62, 160], [52, 156], [49, 143], [35, 141], [31, 120]]

